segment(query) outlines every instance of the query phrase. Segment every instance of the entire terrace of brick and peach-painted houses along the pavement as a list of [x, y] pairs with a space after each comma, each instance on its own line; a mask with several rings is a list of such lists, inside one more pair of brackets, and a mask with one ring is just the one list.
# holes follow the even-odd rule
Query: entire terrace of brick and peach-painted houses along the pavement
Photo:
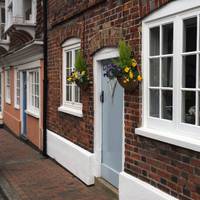
[[199, 0], [0, 2], [1, 123], [120, 200], [200, 199]]

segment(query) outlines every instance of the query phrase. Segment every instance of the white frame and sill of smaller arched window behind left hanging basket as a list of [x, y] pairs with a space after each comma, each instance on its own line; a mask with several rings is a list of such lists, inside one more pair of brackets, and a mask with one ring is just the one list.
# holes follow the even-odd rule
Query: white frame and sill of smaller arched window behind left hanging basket
[[[81, 40], [78, 38], [72, 38], [67, 40], [62, 45], [62, 105], [58, 108], [58, 111], [71, 114], [77, 117], [83, 117], [82, 112], [82, 103], [75, 102], [75, 84], [72, 84], [72, 101], [66, 101], [66, 84], [67, 84], [67, 75], [66, 75], [66, 53], [72, 51], [72, 69], [74, 68], [75, 54], [74, 52], [81, 47]], [[79, 90], [80, 97], [80, 90]]]

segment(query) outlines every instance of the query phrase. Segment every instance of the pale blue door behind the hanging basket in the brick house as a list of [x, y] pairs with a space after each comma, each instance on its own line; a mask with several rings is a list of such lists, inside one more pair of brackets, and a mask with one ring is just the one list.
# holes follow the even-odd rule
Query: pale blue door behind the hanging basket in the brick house
[[[107, 65], [110, 60], [102, 62]], [[102, 73], [102, 177], [118, 188], [122, 171], [124, 91], [117, 80]]]

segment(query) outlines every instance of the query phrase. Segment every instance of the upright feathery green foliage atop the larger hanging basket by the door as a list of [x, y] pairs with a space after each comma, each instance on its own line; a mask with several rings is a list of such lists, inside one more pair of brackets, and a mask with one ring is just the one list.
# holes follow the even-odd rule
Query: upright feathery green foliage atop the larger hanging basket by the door
[[124, 40], [120, 40], [118, 50], [119, 58], [117, 59], [117, 61], [115, 61], [115, 63], [121, 68], [124, 68], [125, 66], [130, 66], [132, 63], [130, 45], [126, 44]]

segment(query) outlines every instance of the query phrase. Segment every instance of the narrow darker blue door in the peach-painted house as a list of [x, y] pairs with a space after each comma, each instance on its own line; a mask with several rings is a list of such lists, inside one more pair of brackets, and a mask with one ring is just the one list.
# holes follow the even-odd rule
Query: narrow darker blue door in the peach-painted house
[[22, 136], [26, 137], [27, 75], [22, 72]]

